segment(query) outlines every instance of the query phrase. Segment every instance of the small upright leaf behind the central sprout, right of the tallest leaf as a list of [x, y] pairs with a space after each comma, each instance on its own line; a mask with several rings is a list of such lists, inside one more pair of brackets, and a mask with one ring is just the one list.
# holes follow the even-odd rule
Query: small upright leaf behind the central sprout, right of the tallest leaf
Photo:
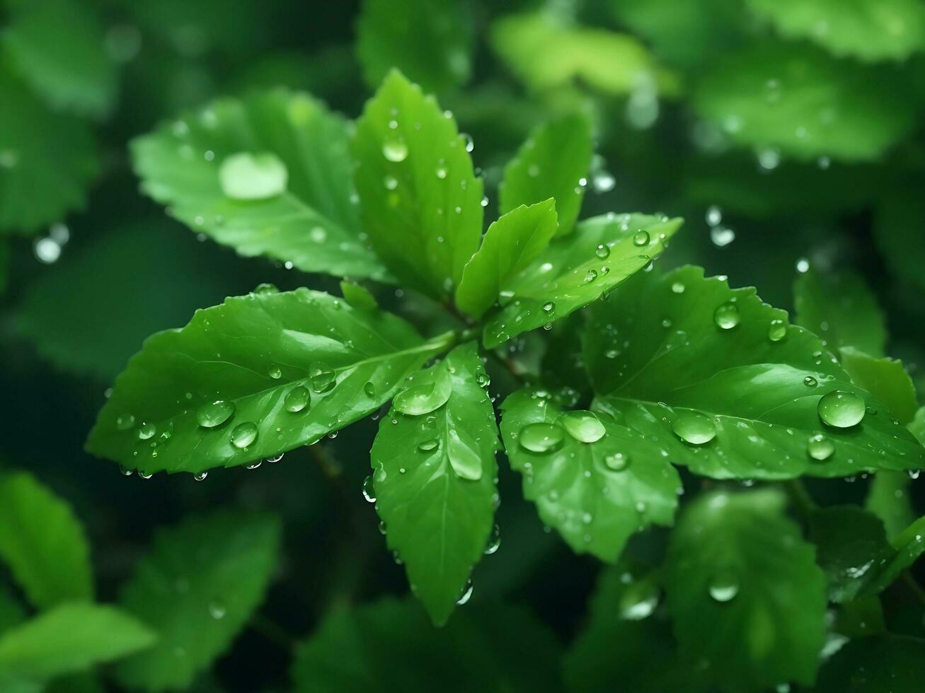
[[567, 116], [534, 129], [504, 167], [498, 187], [501, 213], [555, 198], [559, 228], [554, 233], [572, 233], [585, 198], [591, 154], [591, 124], [584, 116]]

